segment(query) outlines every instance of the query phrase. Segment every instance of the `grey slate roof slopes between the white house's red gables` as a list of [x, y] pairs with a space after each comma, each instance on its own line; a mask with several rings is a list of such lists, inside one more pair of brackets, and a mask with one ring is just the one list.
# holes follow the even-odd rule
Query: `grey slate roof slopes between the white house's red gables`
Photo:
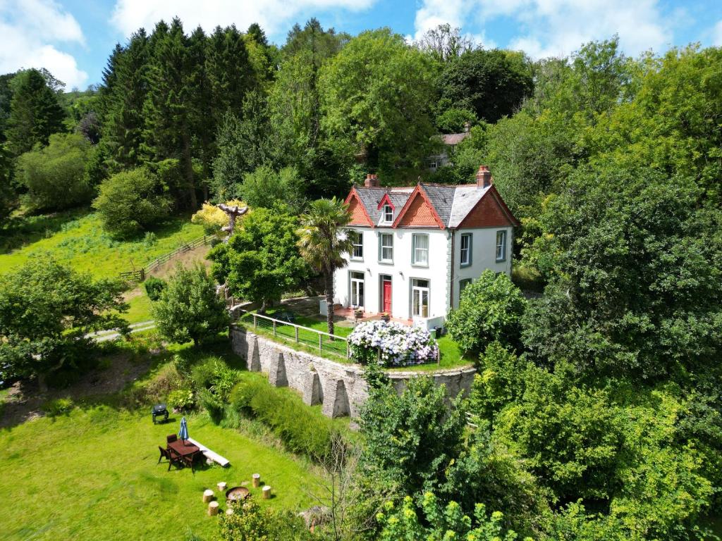
[[[454, 186], [426, 182], [419, 182], [419, 187], [424, 190], [445, 227], [458, 227], [471, 209], [484, 197], [484, 194], [491, 189], [490, 187], [477, 188], [476, 184]], [[373, 224], [376, 225], [380, 222], [382, 212], [382, 209], [378, 208], [378, 204], [384, 195], [388, 194], [388, 198], [391, 199], [396, 214], [398, 214], [406, 201], [409, 201], [409, 196], [414, 189], [355, 186], [362, 205]]]

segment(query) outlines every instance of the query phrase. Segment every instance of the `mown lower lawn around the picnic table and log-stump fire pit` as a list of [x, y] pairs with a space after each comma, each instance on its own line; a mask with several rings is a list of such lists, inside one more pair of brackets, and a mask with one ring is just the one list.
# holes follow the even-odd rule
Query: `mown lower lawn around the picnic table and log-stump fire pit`
[[[191, 416], [193, 439], [230, 460], [177, 470], [157, 464], [158, 445], [178, 431], [178, 418], [153, 425], [150, 415], [108, 407], [76, 409], [0, 431], [0, 532], [4, 540], [182, 540], [188, 532], [211, 539], [217, 519], [206, 515], [205, 488], [228, 486], [261, 473], [275, 498], [263, 504], [308, 508], [314, 476], [302, 462], [238, 431]], [[222, 501], [222, 509], [225, 502]]]

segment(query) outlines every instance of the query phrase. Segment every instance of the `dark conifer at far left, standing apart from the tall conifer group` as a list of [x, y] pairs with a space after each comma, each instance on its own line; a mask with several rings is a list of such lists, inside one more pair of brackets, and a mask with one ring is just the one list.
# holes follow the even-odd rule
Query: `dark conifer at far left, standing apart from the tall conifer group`
[[5, 136], [13, 156], [48, 144], [51, 133], [63, 131], [65, 113], [58, 97], [37, 69], [21, 71], [12, 82], [13, 94]]

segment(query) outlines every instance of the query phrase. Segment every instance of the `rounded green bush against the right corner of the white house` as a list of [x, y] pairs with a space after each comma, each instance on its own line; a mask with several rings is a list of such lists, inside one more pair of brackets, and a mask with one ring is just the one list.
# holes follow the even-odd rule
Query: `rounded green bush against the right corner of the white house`
[[525, 307], [526, 300], [510, 278], [487, 269], [464, 289], [458, 309], [446, 318], [446, 328], [465, 353], [480, 353], [495, 340], [517, 348]]

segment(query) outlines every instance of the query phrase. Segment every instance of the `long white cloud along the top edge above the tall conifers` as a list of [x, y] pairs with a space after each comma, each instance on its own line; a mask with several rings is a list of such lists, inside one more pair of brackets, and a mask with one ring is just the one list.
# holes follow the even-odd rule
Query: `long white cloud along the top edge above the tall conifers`
[[117, 0], [111, 22], [124, 35], [139, 27], [152, 30], [155, 23], [179, 17], [186, 29], [201, 26], [206, 32], [214, 27], [235, 23], [241, 30], [257, 22], [274, 35], [307, 9], [367, 9], [375, 0]]

